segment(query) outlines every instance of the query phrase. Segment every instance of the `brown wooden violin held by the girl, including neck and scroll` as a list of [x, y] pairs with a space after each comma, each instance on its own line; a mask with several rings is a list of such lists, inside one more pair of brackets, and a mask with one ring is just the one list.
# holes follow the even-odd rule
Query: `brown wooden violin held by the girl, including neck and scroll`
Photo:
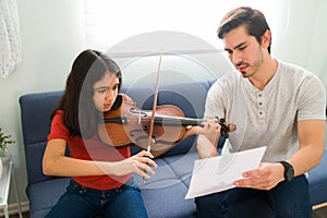
[[[104, 112], [98, 125], [99, 137], [107, 145], [114, 147], [136, 144], [148, 146], [153, 111], [142, 110], [135, 102], [126, 102], [118, 96], [119, 107]], [[206, 120], [185, 118], [183, 111], [172, 105], [158, 106], [154, 116], [152, 149], [167, 150], [185, 138], [187, 125], [202, 125]], [[220, 135], [228, 137], [235, 130], [234, 124], [226, 124], [225, 119], [217, 119], [221, 125]], [[231, 128], [232, 126], [232, 128]]]

